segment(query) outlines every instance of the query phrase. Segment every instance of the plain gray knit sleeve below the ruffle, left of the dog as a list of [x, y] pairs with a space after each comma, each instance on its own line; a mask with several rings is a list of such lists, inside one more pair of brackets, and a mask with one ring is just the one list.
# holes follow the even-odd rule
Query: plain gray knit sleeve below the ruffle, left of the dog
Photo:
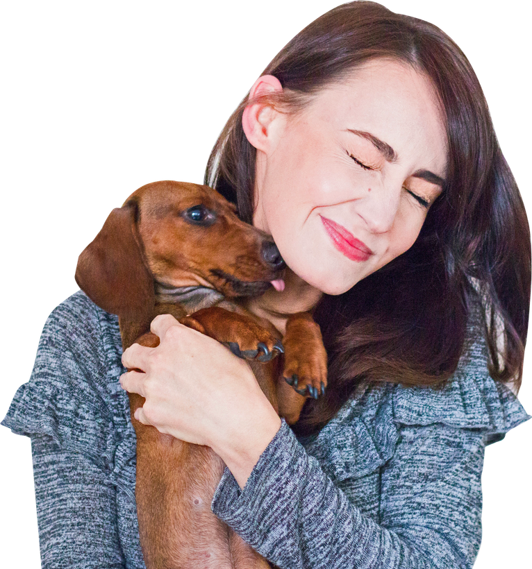
[[88, 457], [31, 437], [42, 569], [124, 569], [116, 488]]

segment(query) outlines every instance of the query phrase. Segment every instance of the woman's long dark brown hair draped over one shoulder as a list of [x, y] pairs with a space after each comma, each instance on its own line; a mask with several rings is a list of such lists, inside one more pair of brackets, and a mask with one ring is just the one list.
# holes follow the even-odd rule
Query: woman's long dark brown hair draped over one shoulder
[[[374, 1], [351, 1], [303, 28], [263, 74], [283, 85], [272, 104], [297, 112], [374, 58], [408, 62], [431, 78], [447, 124], [447, 184], [410, 250], [346, 293], [324, 295], [316, 307], [329, 354], [329, 387], [325, 397], [306, 403], [296, 425], [301, 433], [322, 427], [362, 381], [441, 387], [462, 353], [474, 295], [490, 315], [490, 374], [504, 382], [522, 380], [530, 226], [479, 79], [458, 44], [423, 19]], [[244, 97], [222, 129], [205, 181], [237, 203], [251, 223], [256, 153], [242, 130], [249, 102]]]

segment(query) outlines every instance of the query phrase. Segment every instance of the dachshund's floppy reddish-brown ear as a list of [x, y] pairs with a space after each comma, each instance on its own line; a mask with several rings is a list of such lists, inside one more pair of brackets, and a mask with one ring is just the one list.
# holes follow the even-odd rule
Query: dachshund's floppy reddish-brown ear
[[142, 257], [135, 217], [137, 204], [114, 207], [78, 255], [74, 280], [99, 307], [124, 318], [153, 314], [153, 277]]

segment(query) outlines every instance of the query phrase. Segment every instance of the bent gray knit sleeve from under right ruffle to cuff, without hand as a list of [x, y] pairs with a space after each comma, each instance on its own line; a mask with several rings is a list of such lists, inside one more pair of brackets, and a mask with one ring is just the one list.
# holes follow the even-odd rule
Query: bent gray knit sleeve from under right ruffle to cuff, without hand
[[242, 491], [226, 469], [213, 511], [281, 569], [465, 569], [482, 540], [483, 457], [479, 432], [411, 427], [383, 468], [378, 524], [283, 421]]

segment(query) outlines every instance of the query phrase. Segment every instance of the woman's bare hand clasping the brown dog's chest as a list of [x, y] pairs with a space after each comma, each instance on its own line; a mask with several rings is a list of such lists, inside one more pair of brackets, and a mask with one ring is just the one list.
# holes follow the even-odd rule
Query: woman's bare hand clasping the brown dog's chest
[[146, 399], [135, 418], [176, 439], [210, 446], [243, 488], [281, 426], [251, 368], [168, 314], [153, 320], [151, 332], [159, 346], [133, 344], [122, 355], [126, 368], [142, 370], [120, 377], [123, 389]]

